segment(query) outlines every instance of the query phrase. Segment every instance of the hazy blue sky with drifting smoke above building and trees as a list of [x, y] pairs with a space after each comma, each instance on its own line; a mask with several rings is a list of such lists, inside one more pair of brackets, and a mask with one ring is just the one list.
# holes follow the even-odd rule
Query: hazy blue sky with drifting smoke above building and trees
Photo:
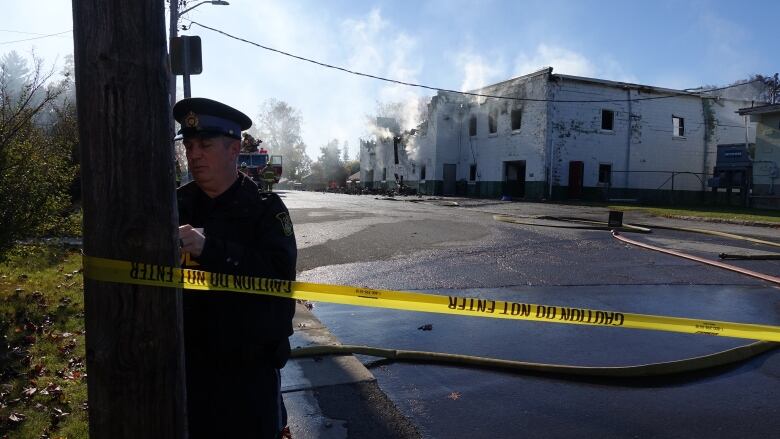
[[[70, 1], [4, 3], [0, 54], [34, 48], [62, 64], [72, 53], [72, 34], [2, 44], [33, 36], [9, 30], [70, 29]], [[780, 70], [778, 16], [773, 0], [231, 0], [185, 18], [367, 73], [471, 89], [544, 66], [671, 88], [725, 85]], [[348, 141], [354, 155], [377, 101], [409, 102], [405, 123], [412, 124], [414, 99], [430, 94], [324, 70], [198, 27], [182, 33], [203, 39], [204, 71], [192, 79], [193, 96], [222, 100], [253, 119], [264, 100], [287, 101], [302, 113], [313, 158], [332, 138]]]

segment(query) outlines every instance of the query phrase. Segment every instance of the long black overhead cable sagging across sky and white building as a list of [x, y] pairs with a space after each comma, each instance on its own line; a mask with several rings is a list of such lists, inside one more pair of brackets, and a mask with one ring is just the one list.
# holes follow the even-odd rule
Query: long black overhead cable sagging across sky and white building
[[[285, 52], [283, 50], [274, 49], [273, 47], [264, 46], [262, 44], [255, 43], [254, 41], [249, 41], [247, 39], [244, 39], [244, 38], [241, 38], [241, 37], [237, 37], [235, 35], [231, 35], [231, 34], [225, 32], [225, 31], [222, 31], [222, 30], [219, 30], [219, 29], [215, 29], [215, 28], [210, 27], [210, 26], [206, 26], [204, 24], [198, 23], [197, 21], [192, 21], [192, 20], [189, 20], [189, 21], [190, 21], [190, 25], [196, 24], [196, 25], [198, 25], [198, 26], [200, 26], [200, 27], [202, 27], [204, 29], [208, 29], [208, 30], [210, 30], [212, 32], [216, 32], [216, 33], [222, 34], [222, 35], [224, 35], [224, 36], [226, 36], [228, 38], [232, 38], [234, 40], [238, 40], [238, 41], [241, 41], [241, 42], [244, 42], [244, 43], [247, 43], [247, 44], [251, 44], [253, 46], [256, 46], [256, 47], [259, 47], [261, 49], [265, 49], [265, 50], [268, 50], [268, 51], [271, 51], [271, 52], [275, 52], [275, 53], [278, 53], [280, 55], [284, 55], [284, 56], [295, 58], [295, 59], [298, 59], [298, 60], [301, 60], [301, 61], [305, 61], [305, 62], [308, 62], [308, 63], [316, 64], [316, 65], [321, 66], [321, 67], [326, 67], [326, 68], [334, 69], [334, 70], [340, 70], [340, 71], [345, 72], [345, 73], [349, 73], [349, 74], [356, 75], [356, 76], [362, 76], [362, 77], [365, 77], [365, 78], [376, 79], [376, 80], [379, 80], [379, 81], [390, 82], [390, 83], [393, 83], [393, 84], [405, 85], [405, 86], [408, 86], [408, 87], [423, 88], [423, 89], [426, 89], [426, 90], [432, 90], [432, 91], [437, 91], [437, 92], [441, 91], [441, 92], [446, 92], [446, 93], [455, 93], [455, 94], [466, 95], [466, 96], [474, 96], [474, 97], [480, 97], [480, 98], [507, 99], [507, 100], [513, 100], [513, 101], [559, 102], [559, 103], [636, 102], [636, 101], [650, 101], [650, 100], [656, 100], [656, 99], [668, 99], [668, 98], [674, 98], [674, 97], [678, 97], [678, 96], [698, 96], [698, 94], [694, 94], [693, 92], [681, 91], [680, 93], [672, 93], [672, 94], [668, 94], [668, 95], [665, 95], [665, 96], [654, 96], [654, 97], [636, 98], [636, 99], [558, 100], [558, 99], [520, 98], [520, 97], [514, 97], [514, 96], [499, 96], [499, 95], [491, 95], [491, 94], [484, 94], [484, 93], [473, 93], [473, 92], [468, 92], [468, 91], [451, 90], [451, 89], [447, 89], [447, 88], [432, 87], [432, 86], [424, 85], [424, 84], [416, 84], [416, 83], [413, 83], [413, 82], [399, 81], [397, 79], [390, 79], [390, 78], [385, 78], [385, 77], [382, 77], [382, 76], [372, 75], [372, 74], [369, 74], [369, 73], [363, 73], [363, 72], [358, 72], [358, 71], [355, 71], [355, 70], [350, 70], [350, 69], [345, 68], [345, 67], [332, 65], [332, 64], [321, 62], [321, 61], [316, 61], [316, 60], [313, 60], [313, 59], [310, 59], [310, 58], [306, 58], [306, 57], [303, 57], [303, 56], [300, 56], [300, 55], [295, 55], [295, 54], [292, 54], [292, 53], [289, 53], [289, 52]], [[712, 88], [712, 89], [707, 89], [707, 90], [699, 90], [696, 93], [706, 93], [706, 92], [711, 92], [711, 91], [725, 90], [727, 88], [740, 87], [740, 86], [743, 86], [745, 84], [750, 84], [751, 82], [756, 82], [756, 81], [757, 81], [757, 79], [755, 79], [753, 81], [749, 81], [749, 82], [744, 82], [744, 83], [741, 83], [741, 84], [728, 85], [728, 86], [725, 86], [725, 87]]]

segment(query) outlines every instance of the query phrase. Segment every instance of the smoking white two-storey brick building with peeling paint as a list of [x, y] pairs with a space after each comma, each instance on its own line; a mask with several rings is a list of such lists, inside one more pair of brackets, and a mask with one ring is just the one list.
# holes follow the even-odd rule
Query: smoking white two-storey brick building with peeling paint
[[[428, 120], [361, 142], [361, 181], [482, 197], [698, 201], [716, 146], [752, 142], [736, 111], [750, 105], [681, 90], [553, 74], [474, 93], [439, 92]], [[671, 96], [671, 97], [670, 97]], [[396, 178], [396, 175], [398, 176]]]

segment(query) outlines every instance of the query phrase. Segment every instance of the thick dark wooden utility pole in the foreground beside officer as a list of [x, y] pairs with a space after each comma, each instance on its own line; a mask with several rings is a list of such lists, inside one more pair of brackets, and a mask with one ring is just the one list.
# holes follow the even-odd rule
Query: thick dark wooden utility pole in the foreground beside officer
[[[73, 0], [88, 256], [178, 264], [164, 11]], [[186, 438], [181, 292], [85, 279], [84, 295], [90, 437]]]

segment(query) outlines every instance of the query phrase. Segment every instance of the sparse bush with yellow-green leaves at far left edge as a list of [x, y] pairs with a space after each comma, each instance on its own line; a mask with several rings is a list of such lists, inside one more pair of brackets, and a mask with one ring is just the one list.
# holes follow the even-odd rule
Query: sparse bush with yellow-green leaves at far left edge
[[14, 52], [0, 62], [0, 257], [18, 239], [56, 230], [70, 206], [77, 137], [59, 101], [66, 84], [52, 76], [36, 57], [32, 67]]

